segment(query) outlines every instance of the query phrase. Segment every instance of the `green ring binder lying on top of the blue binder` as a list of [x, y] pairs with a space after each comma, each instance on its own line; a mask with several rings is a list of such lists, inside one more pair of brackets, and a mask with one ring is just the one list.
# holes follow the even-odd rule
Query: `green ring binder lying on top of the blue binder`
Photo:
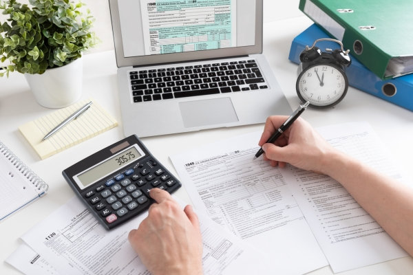
[[413, 73], [412, 0], [300, 0], [299, 9], [379, 78]]

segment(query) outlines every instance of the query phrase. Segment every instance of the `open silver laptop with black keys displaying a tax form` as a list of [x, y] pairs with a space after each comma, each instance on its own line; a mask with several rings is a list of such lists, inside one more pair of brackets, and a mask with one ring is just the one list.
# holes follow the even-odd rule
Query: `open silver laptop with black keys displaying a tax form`
[[262, 0], [109, 0], [109, 7], [126, 136], [257, 124], [291, 112], [262, 55]]

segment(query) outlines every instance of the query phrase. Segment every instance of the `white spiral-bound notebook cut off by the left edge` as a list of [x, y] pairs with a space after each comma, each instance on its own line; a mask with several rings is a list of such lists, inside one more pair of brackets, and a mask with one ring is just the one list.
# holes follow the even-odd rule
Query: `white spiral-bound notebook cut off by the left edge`
[[0, 142], [0, 221], [46, 194], [49, 186]]

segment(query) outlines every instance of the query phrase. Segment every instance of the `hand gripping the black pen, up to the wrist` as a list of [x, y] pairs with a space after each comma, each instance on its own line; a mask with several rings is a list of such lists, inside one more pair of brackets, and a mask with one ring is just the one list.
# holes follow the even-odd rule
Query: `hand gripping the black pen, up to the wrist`
[[269, 160], [272, 166], [284, 167], [289, 163], [304, 170], [325, 173], [328, 154], [335, 149], [302, 118], [295, 120], [275, 144], [265, 143], [287, 118], [279, 115], [267, 118], [258, 143], [264, 150], [264, 159]]

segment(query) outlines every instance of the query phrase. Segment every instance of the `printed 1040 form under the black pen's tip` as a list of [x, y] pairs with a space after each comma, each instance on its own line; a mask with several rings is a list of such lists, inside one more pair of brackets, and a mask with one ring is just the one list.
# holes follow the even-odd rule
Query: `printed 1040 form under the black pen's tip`
[[171, 160], [195, 207], [274, 259], [273, 274], [328, 265], [279, 168], [253, 160], [260, 135], [233, 137]]

